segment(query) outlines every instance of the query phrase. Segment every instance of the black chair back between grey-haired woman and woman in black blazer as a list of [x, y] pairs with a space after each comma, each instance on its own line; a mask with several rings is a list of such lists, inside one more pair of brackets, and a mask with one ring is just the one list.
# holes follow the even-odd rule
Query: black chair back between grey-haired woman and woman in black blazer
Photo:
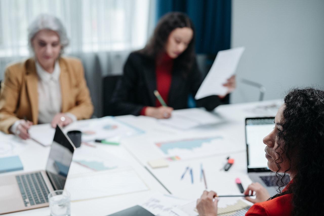
[[102, 114], [103, 116], [111, 116], [112, 110], [110, 106], [110, 100], [112, 97], [112, 94], [115, 91], [116, 85], [118, 80], [121, 78], [121, 75], [115, 75], [115, 76], [105, 76], [102, 79]]

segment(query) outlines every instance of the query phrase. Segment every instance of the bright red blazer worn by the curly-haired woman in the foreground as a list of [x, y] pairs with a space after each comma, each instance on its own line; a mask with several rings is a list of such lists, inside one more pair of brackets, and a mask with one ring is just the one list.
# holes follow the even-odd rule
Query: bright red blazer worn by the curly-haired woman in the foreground
[[[287, 190], [289, 184], [283, 189], [282, 192]], [[292, 205], [292, 194], [285, 194], [283, 196], [265, 201], [255, 203], [249, 210], [246, 212], [245, 216], [256, 216], [256, 215], [268, 215], [268, 216], [286, 216], [291, 215], [293, 210]]]

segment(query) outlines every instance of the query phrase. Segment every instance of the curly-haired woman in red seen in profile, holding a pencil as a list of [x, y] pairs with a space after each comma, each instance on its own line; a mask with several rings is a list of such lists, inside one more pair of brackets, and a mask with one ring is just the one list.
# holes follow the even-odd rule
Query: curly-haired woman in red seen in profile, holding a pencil
[[[268, 167], [291, 181], [270, 197], [258, 183], [244, 192], [256, 192], [246, 215], [323, 215], [324, 209], [324, 91], [294, 89], [284, 98], [275, 117], [273, 131], [263, 139]], [[281, 174], [279, 174], [281, 173]], [[217, 215], [217, 194], [204, 191], [197, 201], [199, 215]], [[270, 198], [269, 198], [270, 197]]]

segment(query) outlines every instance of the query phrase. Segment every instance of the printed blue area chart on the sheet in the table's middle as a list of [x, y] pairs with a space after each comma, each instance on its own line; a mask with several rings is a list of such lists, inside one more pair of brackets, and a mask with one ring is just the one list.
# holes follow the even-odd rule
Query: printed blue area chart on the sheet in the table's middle
[[214, 136], [156, 142], [155, 145], [166, 156], [178, 156], [180, 159], [188, 159], [227, 153], [229, 152], [228, 149], [230, 149], [225, 148], [225, 145], [228, 146], [227, 142], [222, 136]]

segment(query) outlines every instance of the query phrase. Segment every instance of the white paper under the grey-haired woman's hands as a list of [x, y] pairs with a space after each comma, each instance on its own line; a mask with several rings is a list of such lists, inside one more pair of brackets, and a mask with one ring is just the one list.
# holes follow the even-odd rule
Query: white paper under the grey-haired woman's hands
[[52, 128], [51, 124], [32, 125], [28, 132], [34, 141], [44, 146], [52, 145], [55, 129]]

